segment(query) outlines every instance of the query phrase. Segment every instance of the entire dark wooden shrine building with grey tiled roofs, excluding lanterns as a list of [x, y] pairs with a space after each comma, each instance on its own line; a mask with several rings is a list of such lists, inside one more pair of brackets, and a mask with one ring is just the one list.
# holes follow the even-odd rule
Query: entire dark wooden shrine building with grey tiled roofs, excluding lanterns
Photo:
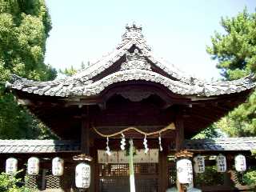
[[[194, 174], [194, 185], [205, 191], [234, 189], [235, 154], [246, 155], [248, 166], [255, 164], [250, 150], [256, 149], [256, 138], [190, 140], [245, 102], [254, 89], [254, 77], [205, 82], [184, 74], [154, 54], [141, 26], [126, 26], [113, 51], [71, 77], [34, 82], [14, 75], [6, 86], [60, 138], [0, 141], [3, 170], [6, 158], [17, 158], [18, 169], [25, 170], [28, 158], [40, 159], [39, 174], [26, 178], [26, 185], [38, 190], [76, 191], [75, 166], [79, 160], [92, 158], [88, 191], [130, 191], [121, 138], [126, 139], [126, 146], [130, 138], [134, 142], [138, 192], [164, 192], [175, 186], [174, 155], [182, 150], [206, 155], [206, 166], [213, 165], [212, 155], [226, 155], [226, 173], [214, 174], [223, 178], [212, 183], [216, 187], [197, 185]], [[146, 147], [149, 151], [144, 154]], [[55, 157], [64, 159], [61, 177], [50, 172]]]

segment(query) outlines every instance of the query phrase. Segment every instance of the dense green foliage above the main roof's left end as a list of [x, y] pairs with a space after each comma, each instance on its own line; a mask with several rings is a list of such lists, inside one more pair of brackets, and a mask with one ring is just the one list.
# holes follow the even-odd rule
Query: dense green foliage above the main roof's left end
[[43, 1], [0, 0], [0, 72], [47, 80], [54, 70], [44, 64], [50, 16]]

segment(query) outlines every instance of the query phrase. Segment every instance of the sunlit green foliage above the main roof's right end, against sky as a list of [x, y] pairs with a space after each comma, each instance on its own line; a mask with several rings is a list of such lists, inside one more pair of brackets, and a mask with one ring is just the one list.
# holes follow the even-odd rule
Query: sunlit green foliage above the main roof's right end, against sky
[[242, 78], [256, 70], [256, 13], [246, 9], [234, 18], [222, 18], [224, 34], [215, 32], [207, 52], [218, 59], [225, 79]]

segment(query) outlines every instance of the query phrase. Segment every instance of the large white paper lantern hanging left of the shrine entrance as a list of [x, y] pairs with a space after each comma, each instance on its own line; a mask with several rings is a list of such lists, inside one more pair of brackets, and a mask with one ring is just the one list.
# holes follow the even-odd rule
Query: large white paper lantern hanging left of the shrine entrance
[[88, 189], [90, 187], [90, 165], [85, 162], [75, 167], [75, 186]]

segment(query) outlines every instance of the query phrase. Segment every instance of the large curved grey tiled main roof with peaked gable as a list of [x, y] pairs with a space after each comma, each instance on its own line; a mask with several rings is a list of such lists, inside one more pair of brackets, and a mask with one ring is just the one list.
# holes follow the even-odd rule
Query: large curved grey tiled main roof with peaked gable
[[[130, 53], [133, 46], [139, 53]], [[110, 66], [114, 66], [121, 58], [121, 69], [94, 81], [94, 77], [102, 74]], [[157, 66], [168, 75], [158, 74], [150, 70], [149, 66]], [[58, 79], [50, 82], [34, 82], [26, 78], [14, 76], [12, 82], [6, 86], [14, 90], [22, 90], [30, 94], [50, 95], [58, 97], [92, 96], [98, 95], [116, 82], [137, 81], [155, 82], [166, 86], [174, 94], [187, 94], [197, 96], [214, 96], [220, 94], [238, 93], [254, 88], [254, 77], [238, 79], [230, 82], [204, 82], [198, 78], [183, 73], [169, 62], [155, 56], [146, 44], [142, 34], [142, 27], [136, 25], [126, 26], [126, 33], [122, 35], [122, 42], [112, 52], [106, 54], [97, 62], [79, 71], [72, 77]]]

